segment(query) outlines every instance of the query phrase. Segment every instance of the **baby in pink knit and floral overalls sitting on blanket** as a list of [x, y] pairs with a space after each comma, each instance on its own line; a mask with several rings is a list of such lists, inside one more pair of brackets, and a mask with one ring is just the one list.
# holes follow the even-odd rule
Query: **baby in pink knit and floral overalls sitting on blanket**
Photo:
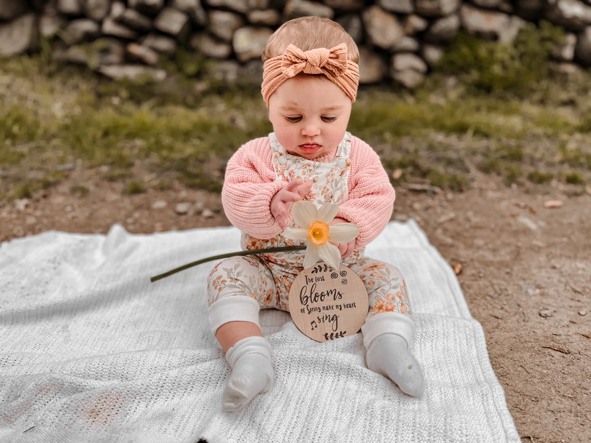
[[[394, 189], [376, 152], [346, 131], [359, 82], [359, 51], [336, 22], [320, 17], [283, 24], [265, 46], [262, 96], [274, 132], [242, 145], [226, 168], [222, 204], [242, 231], [246, 249], [305, 246], [285, 239], [291, 206], [336, 203], [329, 224], [355, 223], [358, 236], [336, 244], [342, 263], [362, 279], [369, 296], [361, 328], [367, 367], [421, 396], [423, 373], [410, 352], [414, 334], [408, 294], [398, 269], [363, 255], [392, 215]], [[223, 408], [237, 411], [271, 387], [271, 345], [259, 310], [289, 311], [291, 284], [303, 270], [303, 252], [235, 256], [213, 268], [207, 281], [212, 333], [232, 374]]]

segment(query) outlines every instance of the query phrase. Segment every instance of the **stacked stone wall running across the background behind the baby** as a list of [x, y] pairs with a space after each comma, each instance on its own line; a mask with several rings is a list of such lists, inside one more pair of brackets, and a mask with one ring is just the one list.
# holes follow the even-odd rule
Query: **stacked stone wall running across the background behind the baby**
[[[53, 41], [56, 60], [113, 79], [158, 69], [193, 51], [217, 60], [225, 82], [261, 78], [262, 49], [283, 22], [317, 15], [339, 22], [359, 45], [360, 82], [420, 84], [460, 29], [511, 44], [527, 21], [564, 27], [553, 57], [591, 66], [591, 0], [0, 0], [0, 56]], [[91, 50], [89, 50], [91, 48]]]

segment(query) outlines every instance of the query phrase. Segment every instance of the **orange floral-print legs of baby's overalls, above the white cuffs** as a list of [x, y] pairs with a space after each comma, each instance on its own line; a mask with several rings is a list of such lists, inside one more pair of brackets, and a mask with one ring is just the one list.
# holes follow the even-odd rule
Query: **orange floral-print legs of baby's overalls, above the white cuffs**
[[[346, 266], [359, 275], [368, 290], [368, 318], [380, 312], [411, 314], [406, 283], [397, 268], [365, 256]], [[217, 263], [207, 278], [209, 306], [225, 297], [247, 295], [261, 309], [289, 312], [291, 284], [301, 271], [258, 255], [229, 257]]]

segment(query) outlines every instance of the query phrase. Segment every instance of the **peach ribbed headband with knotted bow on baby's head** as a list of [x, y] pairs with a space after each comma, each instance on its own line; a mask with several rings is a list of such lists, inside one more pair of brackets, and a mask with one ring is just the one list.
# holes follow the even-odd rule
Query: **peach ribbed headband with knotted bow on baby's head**
[[300, 72], [324, 74], [340, 87], [355, 102], [359, 86], [359, 66], [347, 57], [347, 45], [341, 43], [334, 48], [315, 48], [302, 51], [290, 44], [282, 56], [265, 61], [262, 74], [261, 93], [269, 107], [269, 97], [283, 82]]

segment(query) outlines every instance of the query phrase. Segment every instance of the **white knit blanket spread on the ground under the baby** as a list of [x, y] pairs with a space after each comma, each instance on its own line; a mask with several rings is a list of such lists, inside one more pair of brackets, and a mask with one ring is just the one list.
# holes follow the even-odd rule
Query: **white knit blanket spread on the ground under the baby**
[[[235, 227], [135, 235], [50, 231], [0, 245], [0, 442], [518, 442], [452, 269], [414, 222], [366, 255], [406, 277], [421, 399], [365, 366], [361, 333], [317, 343], [261, 311], [275, 381], [222, 411], [230, 373], [207, 325], [207, 262], [239, 250]], [[26, 432], [25, 432], [26, 431]]]

